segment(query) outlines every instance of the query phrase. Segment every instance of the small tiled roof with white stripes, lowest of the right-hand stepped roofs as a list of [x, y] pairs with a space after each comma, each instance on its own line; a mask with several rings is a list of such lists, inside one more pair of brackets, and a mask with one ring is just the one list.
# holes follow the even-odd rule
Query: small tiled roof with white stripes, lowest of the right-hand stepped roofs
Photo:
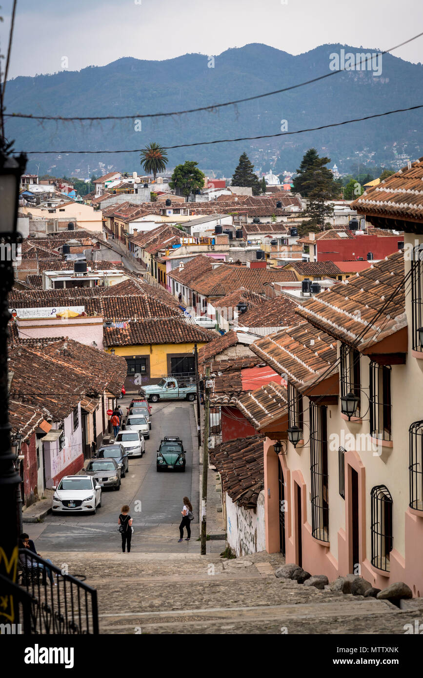
[[261, 428], [269, 417], [281, 415], [288, 403], [288, 392], [285, 386], [277, 382], [269, 382], [256, 391], [241, 393], [237, 408], [249, 420], [254, 428]]

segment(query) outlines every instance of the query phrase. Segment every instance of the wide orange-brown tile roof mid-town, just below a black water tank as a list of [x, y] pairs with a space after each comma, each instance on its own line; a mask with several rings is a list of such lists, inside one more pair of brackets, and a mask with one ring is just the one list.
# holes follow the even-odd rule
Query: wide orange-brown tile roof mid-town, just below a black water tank
[[197, 278], [192, 289], [204, 296], [226, 296], [240, 287], [263, 294], [264, 283], [274, 281], [297, 281], [297, 277], [294, 271], [220, 264], [213, 271]]

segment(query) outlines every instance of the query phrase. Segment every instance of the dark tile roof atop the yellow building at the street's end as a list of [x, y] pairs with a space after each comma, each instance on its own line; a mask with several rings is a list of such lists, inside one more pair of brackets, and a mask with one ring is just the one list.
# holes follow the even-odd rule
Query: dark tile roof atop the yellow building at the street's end
[[179, 318], [129, 321], [126, 327], [104, 327], [104, 346], [209, 342], [216, 334]]

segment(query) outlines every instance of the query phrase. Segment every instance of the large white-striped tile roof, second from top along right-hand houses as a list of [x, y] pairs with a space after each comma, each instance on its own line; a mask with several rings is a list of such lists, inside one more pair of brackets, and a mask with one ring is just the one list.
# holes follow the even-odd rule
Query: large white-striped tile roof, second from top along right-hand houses
[[[407, 325], [403, 283], [403, 252], [395, 252], [307, 300], [297, 312], [346, 344], [358, 342], [357, 348], [362, 350]], [[359, 340], [366, 328], [366, 334]]]

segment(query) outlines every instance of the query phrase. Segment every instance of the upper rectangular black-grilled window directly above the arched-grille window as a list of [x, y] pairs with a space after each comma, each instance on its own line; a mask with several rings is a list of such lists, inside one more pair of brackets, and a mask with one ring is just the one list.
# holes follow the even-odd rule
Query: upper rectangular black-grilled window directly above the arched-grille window
[[392, 438], [390, 365], [370, 363], [370, 435], [380, 440]]

